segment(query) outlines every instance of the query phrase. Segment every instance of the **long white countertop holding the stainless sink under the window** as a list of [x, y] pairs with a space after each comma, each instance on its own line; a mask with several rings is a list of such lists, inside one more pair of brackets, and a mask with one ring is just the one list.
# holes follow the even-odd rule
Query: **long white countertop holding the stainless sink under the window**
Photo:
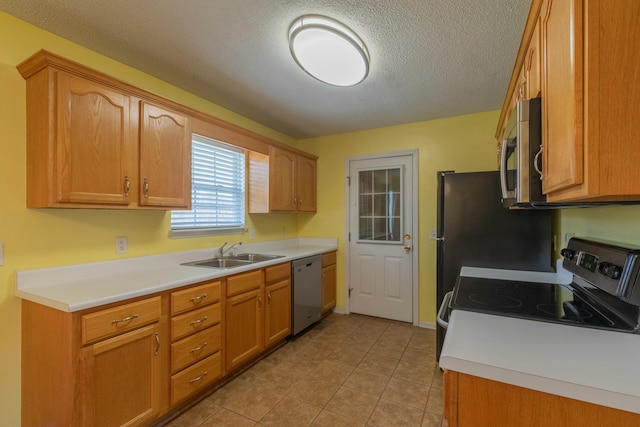
[[282, 255], [231, 269], [184, 266], [212, 258], [215, 248], [124, 260], [18, 271], [15, 295], [66, 312], [123, 301], [218, 277], [336, 250], [337, 239], [288, 239], [243, 244], [239, 253]]

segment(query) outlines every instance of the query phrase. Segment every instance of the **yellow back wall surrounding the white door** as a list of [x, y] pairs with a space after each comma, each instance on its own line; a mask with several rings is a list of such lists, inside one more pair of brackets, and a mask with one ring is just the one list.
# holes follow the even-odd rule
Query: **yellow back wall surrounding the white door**
[[[300, 236], [339, 237], [339, 260], [345, 250], [345, 159], [372, 153], [419, 150], [419, 319], [435, 320], [436, 242], [429, 229], [436, 227], [436, 185], [441, 170], [470, 172], [497, 168], [493, 134], [498, 111], [428, 122], [307, 139], [299, 148], [318, 160], [318, 213], [300, 216]], [[338, 263], [338, 301], [344, 308], [345, 270]]]

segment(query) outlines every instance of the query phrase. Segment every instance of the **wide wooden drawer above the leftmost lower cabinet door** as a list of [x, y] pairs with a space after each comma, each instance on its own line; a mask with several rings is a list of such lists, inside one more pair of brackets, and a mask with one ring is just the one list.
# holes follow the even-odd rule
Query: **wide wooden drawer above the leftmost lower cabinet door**
[[160, 319], [160, 297], [82, 316], [82, 344], [118, 335]]

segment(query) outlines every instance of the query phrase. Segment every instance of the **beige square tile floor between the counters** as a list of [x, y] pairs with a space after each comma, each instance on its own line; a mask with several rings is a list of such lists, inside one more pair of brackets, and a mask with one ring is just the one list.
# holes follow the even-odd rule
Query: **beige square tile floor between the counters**
[[440, 427], [435, 331], [332, 314], [168, 424]]

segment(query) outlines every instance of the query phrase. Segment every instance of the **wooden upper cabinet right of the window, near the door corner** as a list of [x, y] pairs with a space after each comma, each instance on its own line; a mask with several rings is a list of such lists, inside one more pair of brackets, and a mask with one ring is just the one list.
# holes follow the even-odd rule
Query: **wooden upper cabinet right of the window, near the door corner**
[[316, 212], [316, 157], [269, 147], [249, 153], [249, 213]]

